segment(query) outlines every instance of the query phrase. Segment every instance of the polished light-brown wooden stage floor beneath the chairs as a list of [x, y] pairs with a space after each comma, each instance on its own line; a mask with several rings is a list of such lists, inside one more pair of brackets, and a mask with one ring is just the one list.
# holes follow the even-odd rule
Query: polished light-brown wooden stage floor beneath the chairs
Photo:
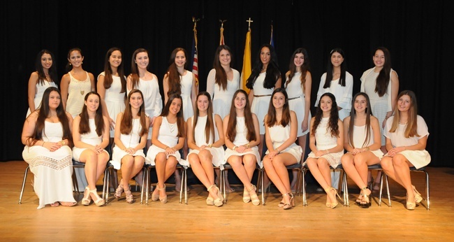
[[[430, 211], [423, 205], [414, 211], [405, 208], [405, 191], [390, 180], [392, 207], [377, 205], [359, 208], [354, 201], [359, 192], [349, 180], [350, 206], [325, 207], [325, 194], [308, 186], [307, 203], [295, 197], [295, 208], [277, 207], [281, 196], [266, 194], [265, 206], [242, 202], [242, 186], [228, 195], [228, 204], [206, 206], [207, 192], [192, 185], [188, 205], [179, 203], [179, 194], [168, 186], [168, 204], [152, 202], [126, 204], [110, 196], [107, 206], [46, 206], [37, 210], [38, 197], [29, 173], [22, 198], [17, 204], [24, 169], [23, 161], [0, 162], [1, 241], [451, 241], [454, 239], [454, 169], [429, 168]], [[375, 175], [375, 174], [374, 174]], [[424, 192], [423, 173], [411, 173], [413, 184]], [[102, 178], [101, 178], [102, 179]], [[101, 185], [102, 181], [99, 181]], [[100, 189], [98, 189], [99, 191]], [[275, 190], [274, 190], [275, 191]], [[101, 194], [101, 192], [99, 192]], [[423, 194], [424, 195], [424, 194]], [[259, 196], [260, 197], [260, 196]], [[341, 195], [342, 197], [342, 195]], [[423, 196], [425, 197], [425, 195]]]

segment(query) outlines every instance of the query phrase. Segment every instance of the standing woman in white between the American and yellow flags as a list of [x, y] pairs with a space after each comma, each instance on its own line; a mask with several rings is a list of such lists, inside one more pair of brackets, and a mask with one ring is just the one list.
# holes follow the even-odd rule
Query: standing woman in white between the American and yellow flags
[[[233, 94], [240, 88], [240, 73], [230, 67], [232, 51], [227, 45], [219, 45], [214, 54], [213, 69], [208, 73], [207, 92], [213, 99], [213, 112], [224, 120], [230, 111]], [[219, 176], [219, 170], [216, 170]], [[225, 171], [226, 192], [235, 192], [228, 183]]]

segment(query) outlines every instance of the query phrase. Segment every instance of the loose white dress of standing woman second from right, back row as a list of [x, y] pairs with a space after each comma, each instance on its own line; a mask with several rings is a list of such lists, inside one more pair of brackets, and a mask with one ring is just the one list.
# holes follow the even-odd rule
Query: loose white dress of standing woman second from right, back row
[[323, 88], [323, 85], [325, 85], [325, 79], [326, 73], [323, 73], [320, 80], [320, 86], [318, 87], [315, 106], [318, 106], [318, 102], [320, 101], [322, 94], [325, 92], [331, 92], [336, 97], [337, 106], [342, 108], [339, 110], [339, 119], [344, 120], [344, 118], [350, 116], [351, 99], [353, 98], [353, 76], [351, 76], [348, 71], [345, 72], [345, 87], [339, 85], [339, 78], [337, 78], [336, 80], [331, 80], [330, 87]]

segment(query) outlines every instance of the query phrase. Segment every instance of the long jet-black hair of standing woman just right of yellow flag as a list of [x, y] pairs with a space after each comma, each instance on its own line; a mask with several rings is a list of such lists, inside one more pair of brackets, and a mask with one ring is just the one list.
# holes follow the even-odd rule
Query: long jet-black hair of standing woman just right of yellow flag
[[254, 69], [252, 69], [251, 76], [247, 78], [247, 83], [246, 87], [249, 89], [254, 89], [254, 83], [256, 82], [256, 79], [258, 75], [260, 75], [263, 67], [263, 63], [261, 62], [260, 59], [260, 54], [262, 52], [263, 48], [268, 48], [270, 50], [270, 63], [268, 63], [268, 66], [266, 68], [266, 76], [265, 76], [265, 81], [263, 82], [263, 87], [266, 89], [271, 89], [276, 85], [277, 79], [281, 77], [281, 72], [279, 71], [279, 65], [277, 64], [277, 55], [276, 52], [274, 51], [274, 47], [269, 44], [264, 44], [261, 46], [260, 50], [258, 51], [258, 55], [256, 57], [256, 63], [254, 64]]

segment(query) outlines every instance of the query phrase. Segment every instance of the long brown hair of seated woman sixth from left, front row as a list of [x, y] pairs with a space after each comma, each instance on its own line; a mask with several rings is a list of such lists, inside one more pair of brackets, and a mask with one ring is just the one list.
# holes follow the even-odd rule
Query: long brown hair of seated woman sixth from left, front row
[[256, 129], [254, 129], [254, 121], [252, 120], [251, 106], [249, 106], [249, 99], [247, 98], [247, 92], [239, 89], [233, 94], [232, 103], [230, 105], [230, 113], [228, 114], [228, 124], [227, 124], [227, 137], [228, 140], [233, 142], [237, 136], [237, 111], [235, 108], [235, 98], [239, 93], [244, 94], [246, 97], [246, 105], [244, 106], [244, 124], [247, 127], [247, 140], [255, 141], [257, 134]]

